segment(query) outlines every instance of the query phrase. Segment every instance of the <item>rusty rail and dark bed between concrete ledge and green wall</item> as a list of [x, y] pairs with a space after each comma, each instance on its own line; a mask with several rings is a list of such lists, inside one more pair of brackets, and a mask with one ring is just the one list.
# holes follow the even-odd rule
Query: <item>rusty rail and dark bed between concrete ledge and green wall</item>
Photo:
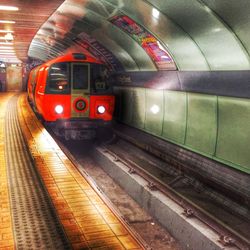
[[[248, 208], [187, 176], [181, 170], [147, 156], [119, 135], [116, 135], [115, 142], [102, 146], [102, 150], [112, 156], [115, 162], [126, 165], [131, 175], [139, 175], [145, 179], [151, 191], [158, 190], [180, 205], [186, 217], [195, 217], [209, 226], [218, 234], [218, 241], [223, 246], [250, 249]], [[222, 210], [224, 214], [221, 213]], [[226, 218], [228, 216], [232, 216], [232, 223]], [[235, 221], [237, 225], [234, 224]]]

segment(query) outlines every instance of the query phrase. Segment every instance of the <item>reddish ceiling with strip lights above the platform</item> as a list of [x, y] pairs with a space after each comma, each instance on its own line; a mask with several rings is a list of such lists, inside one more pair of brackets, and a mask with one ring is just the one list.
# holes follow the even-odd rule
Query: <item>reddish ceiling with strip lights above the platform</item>
[[[11, 58], [4, 57], [0, 54], [0, 61], [6, 62], [26, 62], [30, 43], [41, 25], [49, 16], [60, 6], [63, 0], [37, 0], [37, 1], [20, 1], [20, 0], [1, 0], [1, 5], [11, 5], [18, 8], [18, 11], [0, 10], [0, 49], [4, 46], [13, 50]], [[37, 11], [39, 9], [39, 12]], [[3, 39], [3, 31], [11, 31], [12, 40]], [[9, 56], [10, 57], [10, 56]], [[18, 58], [18, 59], [17, 59]], [[20, 61], [19, 61], [20, 60]]]

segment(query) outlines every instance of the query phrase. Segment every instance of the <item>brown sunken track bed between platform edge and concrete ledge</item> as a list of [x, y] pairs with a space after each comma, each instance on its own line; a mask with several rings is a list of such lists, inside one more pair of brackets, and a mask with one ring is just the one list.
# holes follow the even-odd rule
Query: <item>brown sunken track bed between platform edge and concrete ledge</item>
[[[52, 130], [49, 132], [53, 134]], [[123, 221], [126, 228], [132, 232], [145, 249], [180, 250], [179, 244], [166, 229], [140, 208], [126, 192], [115, 184], [115, 181], [112, 181], [111, 178], [107, 180], [107, 174], [103, 177], [104, 172], [101, 171], [99, 164], [93, 160], [95, 143], [92, 141], [83, 141], [82, 144], [79, 141], [75, 143], [56, 137], [55, 134], [53, 137], [78, 171], [84, 178], [88, 179], [92, 188], [102, 196], [113, 213]], [[77, 146], [75, 146], [76, 144]], [[102, 180], [100, 181], [100, 179]]]

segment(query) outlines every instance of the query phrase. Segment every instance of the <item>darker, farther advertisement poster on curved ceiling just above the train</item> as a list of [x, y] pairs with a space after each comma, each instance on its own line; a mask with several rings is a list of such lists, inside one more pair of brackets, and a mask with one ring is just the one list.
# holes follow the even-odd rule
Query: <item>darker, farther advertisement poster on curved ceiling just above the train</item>
[[87, 33], [80, 33], [74, 42], [108, 65], [111, 70], [122, 71], [123, 67], [116, 57]]

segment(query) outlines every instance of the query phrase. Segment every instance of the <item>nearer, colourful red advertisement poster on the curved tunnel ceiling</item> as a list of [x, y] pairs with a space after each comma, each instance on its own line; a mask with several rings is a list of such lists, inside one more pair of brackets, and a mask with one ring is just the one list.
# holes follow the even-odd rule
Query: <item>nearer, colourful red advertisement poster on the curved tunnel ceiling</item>
[[173, 59], [161, 43], [130, 17], [117, 15], [109, 21], [128, 33], [147, 52], [159, 70], [176, 70]]

